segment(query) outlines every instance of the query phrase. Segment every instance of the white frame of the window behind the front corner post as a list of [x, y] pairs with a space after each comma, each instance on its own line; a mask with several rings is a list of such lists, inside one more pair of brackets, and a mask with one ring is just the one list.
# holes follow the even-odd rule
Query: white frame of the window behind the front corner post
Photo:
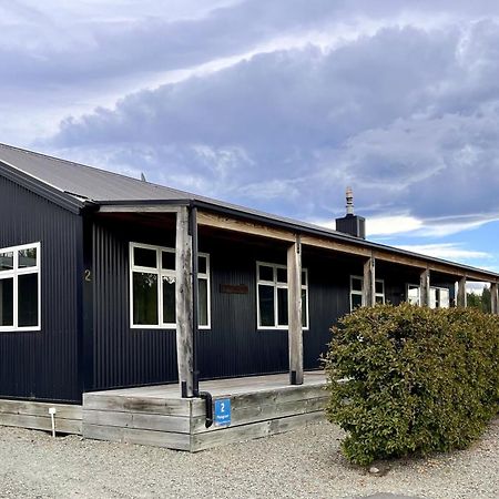
[[[156, 266], [155, 267], [144, 267], [140, 265], [134, 265], [134, 248], [142, 249], [152, 249], [156, 252]], [[177, 269], [172, 271], [171, 268], [162, 268], [162, 253], [173, 253], [176, 255], [175, 248], [165, 247], [165, 246], [156, 246], [153, 244], [145, 243], [129, 243], [129, 289], [130, 289], [130, 328], [131, 329], [176, 329], [175, 323], [164, 323], [163, 322], [163, 277], [173, 277], [175, 283], [177, 282]], [[206, 281], [206, 289], [207, 289], [207, 324], [198, 325], [200, 329], [211, 329], [211, 320], [212, 320], [212, 306], [211, 306], [211, 278], [210, 278], [210, 254], [198, 252], [197, 256], [202, 256], [206, 258], [206, 272], [197, 273], [197, 281], [203, 279]], [[133, 273], [144, 273], [144, 274], [154, 274], [157, 276], [157, 324], [134, 324], [133, 322]], [[176, 306], [176, 295], [175, 295], [175, 306]], [[175, 314], [176, 317], [176, 314]]]

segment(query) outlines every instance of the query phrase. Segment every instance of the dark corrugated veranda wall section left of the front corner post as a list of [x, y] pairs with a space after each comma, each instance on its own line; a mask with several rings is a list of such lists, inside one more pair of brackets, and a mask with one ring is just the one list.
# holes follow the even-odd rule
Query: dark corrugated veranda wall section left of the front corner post
[[[172, 246], [161, 231], [118, 223], [93, 226], [93, 388], [139, 386], [177, 378], [174, 329], [132, 329], [129, 307], [129, 242]], [[170, 234], [171, 235], [171, 234]], [[173, 241], [173, 242], [172, 242]]]

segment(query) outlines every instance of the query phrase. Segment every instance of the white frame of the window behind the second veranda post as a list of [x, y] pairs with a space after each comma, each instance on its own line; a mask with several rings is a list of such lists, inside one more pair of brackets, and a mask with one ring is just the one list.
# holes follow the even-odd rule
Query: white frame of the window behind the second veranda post
[[[259, 267], [272, 267], [273, 272], [273, 281], [265, 281], [259, 278]], [[277, 281], [277, 268], [285, 269], [286, 276], [287, 276], [287, 266], [282, 264], [274, 264], [269, 262], [256, 262], [256, 329], [257, 330], [288, 330], [289, 324], [286, 325], [279, 325], [278, 324], [278, 303], [277, 303], [277, 289], [286, 289], [288, 291], [288, 283], [286, 277], [286, 283], [281, 283]], [[305, 281], [306, 284], [303, 284], [303, 277], [302, 277], [302, 294], [303, 291], [306, 291], [306, 303], [305, 303], [305, 309], [306, 309], [306, 325], [302, 326], [302, 330], [309, 330], [310, 328], [310, 315], [309, 315], [309, 289], [308, 289], [308, 269], [302, 268], [302, 273], [305, 274]], [[274, 288], [274, 326], [262, 326], [262, 317], [259, 314], [259, 286], [273, 286]], [[288, 304], [289, 306], [289, 304]], [[304, 309], [304, 304], [302, 301], [302, 310]]]

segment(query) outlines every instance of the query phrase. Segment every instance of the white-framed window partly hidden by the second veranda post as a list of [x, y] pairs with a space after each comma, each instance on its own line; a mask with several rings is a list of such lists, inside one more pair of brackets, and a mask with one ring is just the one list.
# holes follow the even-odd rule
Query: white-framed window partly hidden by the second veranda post
[[[258, 329], [287, 329], [287, 267], [256, 262]], [[302, 326], [308, 329], [308, 272], [302, 269]]]

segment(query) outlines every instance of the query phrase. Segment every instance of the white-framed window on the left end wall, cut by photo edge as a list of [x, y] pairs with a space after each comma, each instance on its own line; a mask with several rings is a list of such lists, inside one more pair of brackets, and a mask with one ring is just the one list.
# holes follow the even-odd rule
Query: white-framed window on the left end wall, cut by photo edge
[[41, 329], [40, 247], [0, 249], [0, 332]]

